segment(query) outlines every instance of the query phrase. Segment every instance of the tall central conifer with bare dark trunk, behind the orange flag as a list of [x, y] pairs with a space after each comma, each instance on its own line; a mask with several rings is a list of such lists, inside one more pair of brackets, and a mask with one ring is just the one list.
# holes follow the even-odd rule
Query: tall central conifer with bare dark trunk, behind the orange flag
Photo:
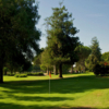
[[59, 77], [62, 77], [62, 64], [77, 61], [74, 49], [80, 43], [74, 35], [78, 31], [73, 26], [72, 14], [64, 5], [60, 3], [60, 8], [52, 8], [52, 15], [46, 19], [47, 46], [51, 59], [59, 64]]

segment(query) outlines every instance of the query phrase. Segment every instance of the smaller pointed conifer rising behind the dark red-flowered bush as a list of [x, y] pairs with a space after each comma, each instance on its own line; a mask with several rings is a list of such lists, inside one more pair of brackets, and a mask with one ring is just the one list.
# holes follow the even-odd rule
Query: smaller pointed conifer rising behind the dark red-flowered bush
[[101, 60], [101, 52], [97, 37], [92, 38], [92, 52], [86, 60], [86, 66], [93, 71], [94, 66]]

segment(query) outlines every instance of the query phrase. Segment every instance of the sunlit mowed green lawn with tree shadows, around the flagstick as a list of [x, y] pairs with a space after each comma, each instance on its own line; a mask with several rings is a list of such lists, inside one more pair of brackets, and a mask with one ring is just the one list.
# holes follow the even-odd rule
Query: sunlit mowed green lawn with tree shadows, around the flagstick
[[109, 77], [63, 74], [63, 78], [4, 76], [0, 109], [109, 109]]

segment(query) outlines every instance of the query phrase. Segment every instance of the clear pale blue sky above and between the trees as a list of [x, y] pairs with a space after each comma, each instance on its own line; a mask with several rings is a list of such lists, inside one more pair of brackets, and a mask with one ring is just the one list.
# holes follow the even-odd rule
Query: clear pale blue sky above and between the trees
[[[45, 19], [52, 15], [51, 8], [59, 8], [62, 0], [36, 0], [39, 2], [40, 20], [36, 25], [41, 31], [39, 47], [46, 45]], [[72, 13], [74, 26], [80, 29], [75, 35], [84, 46], [90, 46], [92, 38], [97, 37], [101, 53], [109, 51], [109, 0], [64, 0], [63, 5]]]

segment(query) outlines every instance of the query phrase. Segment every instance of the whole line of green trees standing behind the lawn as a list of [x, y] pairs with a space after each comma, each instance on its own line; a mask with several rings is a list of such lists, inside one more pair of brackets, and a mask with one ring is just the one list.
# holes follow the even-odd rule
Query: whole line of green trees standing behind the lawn
[[80, 31], [74, 26], [72, 14], [62, 2], [59, 4], [59, 8], [52, 8], [52, 15], [45, 19], [47, 47], [39, 49], [38, 3], [35, 0], [0, 0], [0, 83], [3, 83], [3, 72], [8, 70], [41, 69], [47, 73], [53, 70], [62, 77], [65, 69], [74, 71], [75, 62], [75, 69], [85, 72], [86, 69], [93, 71], [101, 59], [106, 61], [96, 37], [90, 47], [82, 45], [75, 36]]

